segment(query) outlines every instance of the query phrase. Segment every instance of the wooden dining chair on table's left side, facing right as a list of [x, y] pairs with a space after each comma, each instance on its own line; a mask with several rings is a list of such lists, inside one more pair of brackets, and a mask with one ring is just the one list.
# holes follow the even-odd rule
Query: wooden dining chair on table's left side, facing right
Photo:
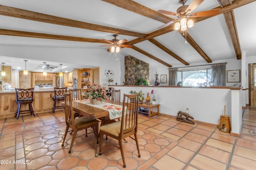
[[64, 146], [64, 142], [68, 133], [68, 129], [71, 128], [74, 133], [72, 136], [72, 141], [70, 144], [70, 149], [68, 153], [71, 153], [71, 149], [74, 144], [74, 140], [76, 138], [76, 133], [80, 130], [87, 129], [89, 127], [92, 127], [93, 129], [96, 129], [96, 139], [98, 142], [98, 125], [99, 121], [96, 119], [89, 119], [87, 117], [79, 117], [77, 119], [74, 118], [74, 111], [72, 106], [72, 99], [71, 99], [71, 93], [65, 93], [64, 94], [64, 103], [65, 103], [65, 120], [66, 120], [66, 130], [64, 134], [64, 138], [62, 141], [62, 147]]

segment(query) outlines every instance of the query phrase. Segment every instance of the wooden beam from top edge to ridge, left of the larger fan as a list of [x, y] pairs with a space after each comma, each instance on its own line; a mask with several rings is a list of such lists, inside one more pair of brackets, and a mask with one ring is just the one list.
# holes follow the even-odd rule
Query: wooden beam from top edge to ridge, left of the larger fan
[[160, 21], [163, 23], [168, 23], [174, 20], [164, 14], [160, 14], [146, 6], [143, 6], [142, 4], [134, 2], [133, 0], [102, 0], [102, 1], [108, 2], [112, 5], [118, 6], [120, 8], [124, 8], [126, 10], [135, 12], [142, 16], [146, 16], [148, 18], [151, 18], [153, 20]]

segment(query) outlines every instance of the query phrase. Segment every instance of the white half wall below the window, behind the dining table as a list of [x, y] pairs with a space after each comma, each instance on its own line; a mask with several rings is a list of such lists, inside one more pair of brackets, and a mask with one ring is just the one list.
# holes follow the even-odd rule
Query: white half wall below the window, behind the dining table
[[[160, 105], [160, 113], [167, 115], [177, 115], [178, 111], [186, 111], [195, 120], [218, 125], [220, 115], [224, 115], [224, 105], [226, 105], [226, 115], [231, 116], [231, 90], [220, 88], [178, 88], [178, 87], [150, 87], [150, 86], [114, 86], [114, 89], [121, 90], [121, 96], [128, 94], [130, 90], [136, 92], [142, 90], [144, 97], [147, 93], [151, 95], [154, 90], [156, 103]], [[121, 98], [122, 100], [122, 98]], [[145, 102], [145, 101], [144, 101]]]

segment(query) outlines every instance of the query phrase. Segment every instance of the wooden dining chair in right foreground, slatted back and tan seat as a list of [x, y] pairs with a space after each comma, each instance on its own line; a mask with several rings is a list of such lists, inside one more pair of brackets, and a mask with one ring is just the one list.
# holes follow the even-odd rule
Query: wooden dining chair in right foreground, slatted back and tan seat
[[[127, 109], [124, 109], [124, 108]], [[138, 144], [138, 94], [124, 94], [122, 119], [114, 123], [103, 125], [100, 127], [100, 150], [99, 155], [102, 155], [102, 140], [103, 135], [107, 135], [118, 140], [119, 148], [122, 155], [123, 167], [126, 168], [124, 159], [124, 149], [122, 140], [130, 137], [136, 141], [138, 157], [140, 158], [140, 149]], [[134, 135], [134, 137], [132, 137]], [[129, 145], [129, 144], [126, 144]], [[95, 156], [98, 156], [96, 154]]]

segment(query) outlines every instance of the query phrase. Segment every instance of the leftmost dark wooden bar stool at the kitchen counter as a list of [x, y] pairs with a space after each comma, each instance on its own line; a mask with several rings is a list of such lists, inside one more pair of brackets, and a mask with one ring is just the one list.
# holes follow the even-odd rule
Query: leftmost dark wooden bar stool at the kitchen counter
[[[16, 119], [19, 118], [22, 112], [30, 113], [33, 116], [36, 116], [34, 114], [34, 110], [32, 107], [32, 102], [34, 101], [34, 98], [33, 98], [34, 88], [15, 88], [15, 92], [16, 92], [15, 102], [18, 105], [16, 114], [15, 114]], [[29, 110], [20, 111], [20, 106], [25, 104], [28, 104]]]

